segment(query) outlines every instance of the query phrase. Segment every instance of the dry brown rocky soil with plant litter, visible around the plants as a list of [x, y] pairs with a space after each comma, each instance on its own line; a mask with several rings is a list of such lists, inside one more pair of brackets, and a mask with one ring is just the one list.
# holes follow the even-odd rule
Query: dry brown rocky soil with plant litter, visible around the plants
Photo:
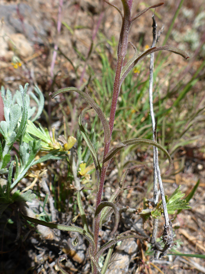
[[[111, 2], [111, 1], [110, 1]], [[122, 8], [120, 1], [113, 1], [116, 6]], [[158, 44], [161, 45], [166, 33], [169, 29], [172, 18], [177, 10], [180, 1], [165, 1], [164, 5], [156, 9], [156, 19], [158, 27], [161, 28], [164, 24], [164, 32], [160, 36]], [[133, 13], [139, 12], [147, 7], [147, 5], [157, 4], [157, 1], [146, 1], [140, 4], [134, 1]], [[12, 93], [18, 89], [19, 85], [30, 84], [30, 89], [33, 90], [35, 84], [43, 91], [45, 96], [45, 110], [48, 113], [49, 119], [45, 116], [40, 118], [42, 125], [52, 127], [57, 121], [60, 121], [56, 129], [60, 131], [63, 125], [63, 115], [59, 108], [59, 102], [63, 98], [51, 100], [48, 97], [49, 92], [53, 92], [62, 87], [75, 86], [81, 88], [89, 80], [87, 68], [90, 66], [99, 77], [101, 73], [100, 56], [97, 50], [97, 43], [104, 39], [107, 47], [107, 55], [110, 59], [110, 64], [114, 68], [116, 64], [116, 52], [113, 52], [108, 41], [118, 41], [121, 28], [121, 18], [117, 10], [110, 7], [103, 1], [87, 0], [87, 1], [63, 1], [63, 10], [61, 16], [61, 30], [57, 32], [59, 1], [5, 1], [0, 0], [0, 85], [5, 89], [10, 89]], [[189, 54], [190, 59], [187, 61], [179, 58], [178, 55], [171, 54], [168, 58], [167, 66], [160, 72], [162, 81], [165, 82], [162, 88], [162, 93], [167, 91], [167, 86], [174, 87], [177, 81], [186, 78], [188, 82], [203, 63], [205, 56], [204, 44], [204, 22], [205, 16], [203, 13], [204, 1], [185, 1], [181, 8], [177, 19], [175, 20], [172, 34], [166, 44], [180, 47]], [[194, 20], [198, 17], [198, 21]], [[130, 31], [128, 41], [133, 42], [140, 50], [145, 50], [146, 45], [151, 46], [152, 43], [152, 12], [148, 11], [140, 16]], [[96, 25], [99, 23], [97, 35], [93, 36]], [[66, 25], [68, 27], [66, 27]], [[188, 36], [190, 34], [191, 37]], [[195, 35], [195, 36], [194, 36]], [[192, 37], [194, 36], [194, 37]], [[89, 58], [88, 56], [90, 45], [93, 40], [93, 51]], [[114, 39], [112, 38], [114, 37]], [[112, 40], [113, 39], [113, 40]], [[54, 47], [58, 47], [54, 68], [52, 68], [52, 58], [54, 55]], [[80, 54], [79, 54], [80, 52]], [[81, 57], [84, 56], [84, 57]], [[162, 53], [164, 56], [165, 53]], [[128, 45], [127, 58], [133, 56], [133, 48]], [[84, 66], [86, 64], [86, 70]], [[171, 66], [177, 66], [183, 72], [179, 73], [176, 78], [166, 83], [166, 75], [171, 70]], [[16, 68], [17, 66], [17, 68]], [[76, 68], [76, 71], [75, 71]], [[186, 73], [185, 73], [186, 72]], [[188, 98], [196, 97], [200, 107], [204, 108], [204, 68], [201, 69], [200, 81], [196, 83], [194, 88], [189, 92]], [[95, 95], [95, 92], [93, 95]], [[96, 95], [96, 97], [98, 97]], [[72, 104], [77, 108], [77, 113], [80, 113], [85, 106], [83, 101], [77, 97], [72, 97]], [[167, 102], [169, 104], [169, 101]], [[69, 117], [68, 124], [70, 125], [70, 135], [76, 134], [77, 122], [72, 121], [69, 107], [65, 107], [66, 114]], [[194, 187], [198, 179], [200, 184], [195, 192], [194, 197], [190, 200], [191, 210], [180, 212], [173, 221], [175, 238], [178, 243], [177, 252], [188, 254], [205, 254], [205, 154], [204, 154], [204, 111], [199, 117], [199, 129], [195, 133], [197, 139], [189, 145], [181, 145], [180, 149], [174, 155], [175, 159], [184, 159], [184, 165], [179, 166], [178, 162], [174, 162], [174, 172], [171, 175], [163, 178], [163, 185], [166, 195], [171, 195], [173, 191], [181, 185], [182, 193], [185, 196]], [[49, 121], [48, 121], [49, 120]], [[49, 124], [47, 124], [49, 123]], [[194, 136], [193, 136], [194, 137]], [[117, 140], [115, 140], [117, 141]], [[121, 141], [121, 140], [119, 140]], [[151, 149], [150, 149], [151, 151]], [[146, 152], [138, 150], [136, 159], [143, 160], [142, 162], [150, 161], [151, 156], [147, 156]], [[118, 180], [118, 170], [115, 169], [113, 161], [109, 167], [104, 199], [112, 193], [113, 185], [116, 185]], [[51, 168], [58, 170], [60, 164], [52, 163]], [[48, 169], [49, 170], [49, 169]], [[64, 176], [64, 177], [63, 177]], [[147, 189], [152, 180], [151, 165], [140, 166], [137, 170], [129, 172], [126, 185], [134, 186], [138, 183], [138, 189], [131, 189], [120, 195], [118, 208], [121, 210], [121, 220], [119, 232], [126, 230], [134, 230], [144, 236], [150, 236], [152, 221], [142, 222], [142, 219], [137, 214], [124, 212], [126, 206], [130, 209], [136, 208], [136, 202], [143, 207], [143, 198], [146, 195], [147, 199], [151, 199], [151, 192]], [[62, 180], [66, 180], [66, 172], [62, 175]], [[39, 191], [45, 197], [46, 186], [43, 184], [51, 184], [52, 175], [48, 172], [40, 179], [36, 191]], [[28, 184], [28, 179], [22, 182], [20, 187]], [[72, 182], [71, 182], [72, 185]], [[72, 198], [74, 192], [71, 191], [68, 201]], [[52, 195], [50, 194], [52, 200]], [[90, 214], [90, 225], [92, 226], [93, 212], [90, 205], [83, 200], [86, 206], [86, 214]], [[94, 204], [94, 199], [90, 199], [90, 204]], [[69, 209], [74, 205], [71, 204], [65, 212], [55, 210], [55, 218], [62, 224], [70, 224], [74, 216], [69, 212]], [[90, 260], [87, 244], [84, 238], [76, 233], [67, 233], [45, 229], [42, 226], [35, 227], [29, 225], [27, 221], [17, 212], [17, 206], [12, 205], [10, 210], [5, 211], [1, 218], [1, 267], [2, 274], [54, 274], [60, 273], [57, 267], [57, 258], [59, 255], [68, 255], [68, 262], [62, 261], [62, 266], [68, 273], [91, 273]], [[24, 210], [30, 214], [39, 213], [39, 201], [36, 199], [32, 204], [28, 203], [28, 208]], [[12, 210], [11, 210], [12, 209]], [[140, 207], [138, 207], [139, 211]], [[29, 211], [30, 210], [30, 211]], [[49, 212], [49, 207], [47, 208]], [[9, 215], [11, 213], [11, 215]], [[78, 213], [77, 213], [78, 214]], [[76, 215], [77, 215], [76, 214]], [[34, 214], [35, 216], [35, 214]], [[131, 216], [131, 219], [130, 219]], [[112, 220], [112, 218], [111, 218]], [[112, 220], [113, 221], [113, 220]], [[75, 222], [76, 225], [82, 226], [80, 217]], [[163, 217], [159, 220], [159, 231], [157, 237], [163, 233]], [[110, 238], [110, 229], [112, 222], [108, 222], [100, 232], [101, 244], [112, 239]], [[72, 243], [78, 236], [78, 244], [74, 246]], [[131, 241], [130, 241], [130, 245]], [[191, 258], [175, 255], [167, 255], [161, 260], [154, 259], [153, 255], [147, 252], [149, 244], [147, 242], [134, 241], [134, 250], [130, 247], [130, 253], [127, 251], [125, 260], [127, 269], [124, 273], [205, 273], [205, 262], [201, 258]], [[147, 252], [147, 253], [146, 253]], [[116, 253], [113, 261], [116, 261]], [[128, 261], [126, 261], [128, 260]], [[112, 259], [111, 259], [112, 261]], [[119, 264], [121, 266], [122, 264]], [[114, 266], [116, 267], [118, 264]], [[112, 272], [113, 264], [110, 266], [108, 273]], [[118, 270], [118, 274], [123, 273]], [[121, 271], [121, 272], [120, 272]], [[124, 270], [125, 271], [125, 270]], [[116, 272], [116, 273], [117, 273]]]

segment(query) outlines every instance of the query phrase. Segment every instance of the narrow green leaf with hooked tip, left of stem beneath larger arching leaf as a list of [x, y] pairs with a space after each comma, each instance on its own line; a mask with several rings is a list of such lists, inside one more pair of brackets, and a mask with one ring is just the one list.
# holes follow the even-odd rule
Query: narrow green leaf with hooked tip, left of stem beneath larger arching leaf
[[79, 116], [79, 119], [78, 119], [78, 124], [79, 124], [79, 128], [80, 128], [80, 132], [83, 136], [83, 139], [86, 141], [87, 147], [89, 148], [90, 153], [92, 155], [93, 162], [94, 162], [94, 165], [95, 165], [96, 174], [97, 174], [97, 178], [98, 178], [98, 182], [99, 182], [100, 174], [101, 174], [101, 167], [100, 167], [100, 163], [98, 161], [98, 156], [96, 154], [95, 148], [94, 148], [92, 142], [90, 141], [90, 138], [87, 135], [87, 133], [86, 133], [84, 127], [83, 127], [83, 123], [82, 123], [83, 113], [85, 111], [91, 109], [91, 108], [92, 107], [86, 107], [85, 109], [82, 110], [81, 115]]

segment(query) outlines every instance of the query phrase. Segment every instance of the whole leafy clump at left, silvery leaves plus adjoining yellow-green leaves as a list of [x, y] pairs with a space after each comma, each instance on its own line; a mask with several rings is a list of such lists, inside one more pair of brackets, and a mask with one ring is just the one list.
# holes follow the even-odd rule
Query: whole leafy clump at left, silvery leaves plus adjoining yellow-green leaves
[[[60, 144], [55, 140], [54, 131], [51, 138], [48, 129], [43, 129], [40, 124], [39, 127], [34, 125], [43, 111], [44, 97], [37, 86], [34, 88], [37, 96], [33, 92], [28, 95], [27, 89], [28, 83], [24, 88], [20, 85], [12, 96], [10, 90], [5, 92], [4, 87], [1, 88], [5, 121], [0, 122], [0, 216], [13, 202], [31, 202], [35, 198], [30, 189], [25, 192], [18, 189], [19, 181], [27, 176], [32, 166], [49, 159], [65, 158], [76, 142], [70, 136]], [[30, 98], [36, 102], [37, 108], [30, 106]], [[16, 153], [11, 161], [14, 143]], [[37, 153], [40, 151], [43, 153], [39, 157]]]

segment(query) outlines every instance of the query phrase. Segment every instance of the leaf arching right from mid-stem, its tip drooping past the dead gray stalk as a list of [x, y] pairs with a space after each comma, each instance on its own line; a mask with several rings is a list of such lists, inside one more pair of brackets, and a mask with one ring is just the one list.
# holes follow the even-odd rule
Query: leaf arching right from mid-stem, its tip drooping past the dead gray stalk
[[161, 149], [167, 156], [168, 160], [169, 160], [169, 168], [166, 171], [166, 173], [170, 172], [171, 168], [172, 168], [172, 159], [168, 153], [168, 151], [166, 149], [164, 149], [160, 144], [158, 144], [157, 142], [154, 142], [152, 140], [149, 139], [142, 139], [142, 138], [135, 138], [135, 139], [130, 139], [124, 142], [121, 142], [120, 144], [124, 145], [121, 147], [114, 147], [113, 149], [111, 149], [106, 158], [103, 160], [103, 162], [107, 162], [113, 158], [113, 156], [119, 151], [121, 150], [123, 147], [127, 147], [128, 145], [134, 145], [134, 144], [148, 144], [148, 145], [154, 145], [155, 147], [158, 147], [158, 149]]

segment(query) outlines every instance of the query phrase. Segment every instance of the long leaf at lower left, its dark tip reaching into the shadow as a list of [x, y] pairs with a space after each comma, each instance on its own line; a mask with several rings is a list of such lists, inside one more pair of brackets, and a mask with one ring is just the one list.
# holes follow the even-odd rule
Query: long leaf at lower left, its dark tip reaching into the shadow
[[34, 224], [40, 224], [41, 226], [46, 226], [46, 227], [50, 227], [50, 228], [55, 228], [55, 229], [59, 229], [59, 230], [63, 230], [63, 231], [72, 231], [72, 232], [78, 232], [79, 234], [83, 235], [90, 243], [90, 245], [92, 246], [92, 248], [94, 249], [94, 241], [92, 236], [87, 233], [84, 229], [77, 227], [77, 226], [65, 226], [63, 224], [53, 224], [53, 223], [48, 223], [39, 219], [35, 219], [35, 218], [31, 218], [29, 216], [26, 216], [23, 214], [21, 207], [19, 208], [19, 212], [21, 213], [21, 215], [23, 216], [24, 219], [26, 219], [29, 222], [33, 222]]

